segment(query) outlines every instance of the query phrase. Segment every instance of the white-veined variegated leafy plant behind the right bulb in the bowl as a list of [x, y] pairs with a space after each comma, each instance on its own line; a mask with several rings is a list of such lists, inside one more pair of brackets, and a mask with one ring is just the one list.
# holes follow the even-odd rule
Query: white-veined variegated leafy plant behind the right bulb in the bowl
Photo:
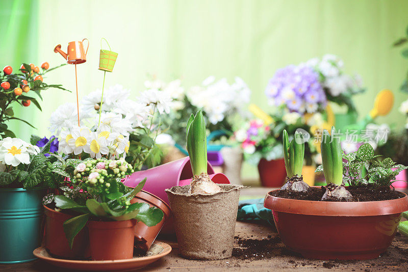
[[[396, 165], [391, 158], [378, 161], [374, 155], [374, 149], [370, 144], [363, 144], [355, 152], [343, 154], [346, 162], [343, 162], [343, 180], [351, 186], [374, 184], [378, 186], [390, 186], [406, 166]], [[362, 170], [366, 169], [366, 175], [362, 176]]]

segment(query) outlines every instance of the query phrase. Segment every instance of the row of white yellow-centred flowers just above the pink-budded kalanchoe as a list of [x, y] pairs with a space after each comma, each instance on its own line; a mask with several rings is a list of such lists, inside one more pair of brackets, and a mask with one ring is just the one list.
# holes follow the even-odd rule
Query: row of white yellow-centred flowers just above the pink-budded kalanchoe
[[58, 153], [79, 155], [88, 153], [92, 158], [125, 157], [129, 151], [129, 137], [108, 130], [91, 131], [85, 126], [64, 130], [59, 137]]

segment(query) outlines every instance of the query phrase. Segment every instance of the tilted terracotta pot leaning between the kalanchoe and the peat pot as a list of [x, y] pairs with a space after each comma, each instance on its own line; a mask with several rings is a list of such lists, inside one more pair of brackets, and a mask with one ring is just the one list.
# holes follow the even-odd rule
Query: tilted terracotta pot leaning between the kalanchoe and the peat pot
[[131, 203], [142, 202], [149, 204], [150, 207], [156, 207], [164, 212], [163, 220], [156, 226], [148, 227], [143, 222], [137, 222], [135, 226], [135, 248], [146, 252], [155, 241], [157, 235], [162, 229], [164, 223], [171, 218], [170, 207], [155, 195], [146, 191], [140, 191]]

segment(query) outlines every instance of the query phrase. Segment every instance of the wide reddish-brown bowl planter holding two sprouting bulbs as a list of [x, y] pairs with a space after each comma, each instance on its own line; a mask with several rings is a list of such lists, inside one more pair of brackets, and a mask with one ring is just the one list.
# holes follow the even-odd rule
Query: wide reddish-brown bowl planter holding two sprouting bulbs
[[[401, 193], [402, 194], [402, 193]], [[307, 201], [266, 195], [286, 247], [319, 260], [375, 259], [394, 239], [408, 197], [368, 202]]]

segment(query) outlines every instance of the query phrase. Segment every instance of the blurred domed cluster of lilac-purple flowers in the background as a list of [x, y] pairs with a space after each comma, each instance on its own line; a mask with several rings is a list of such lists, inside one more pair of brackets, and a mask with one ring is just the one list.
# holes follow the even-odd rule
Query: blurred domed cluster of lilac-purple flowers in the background
[[276, 71], [265, 90], [273, 105], [286, 104], [291, 112], [314, 113], [325, 106], [319, 75], [306, 65], [289, 65]]

